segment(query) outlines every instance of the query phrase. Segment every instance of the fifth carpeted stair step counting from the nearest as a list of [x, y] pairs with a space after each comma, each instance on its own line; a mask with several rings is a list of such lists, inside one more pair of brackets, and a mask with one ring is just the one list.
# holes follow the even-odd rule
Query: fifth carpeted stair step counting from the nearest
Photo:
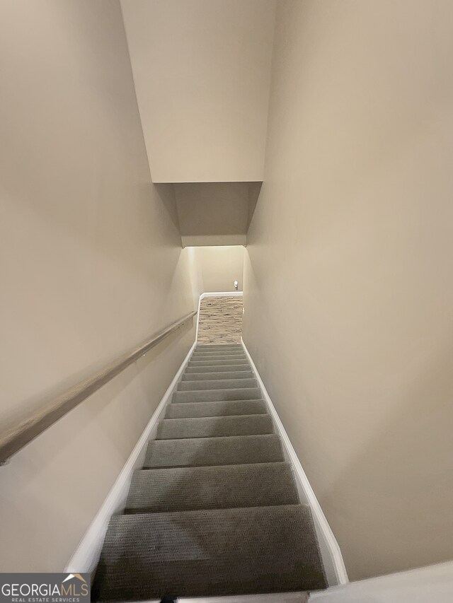
[[185, 402], [184, 404], [168, 404], [165, 418], [265, 414], [266, 411], [266, 405], [263, 400], [233, 400], [231, 402]]

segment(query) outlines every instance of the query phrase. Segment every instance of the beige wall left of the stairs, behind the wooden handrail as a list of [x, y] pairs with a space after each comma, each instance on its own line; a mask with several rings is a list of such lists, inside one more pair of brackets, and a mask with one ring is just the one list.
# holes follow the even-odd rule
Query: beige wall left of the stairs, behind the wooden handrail
[[[0, 419], [196, 308], [120, 5], [0, 6]], [[62, 571], [193, 342], [159, 344], [0, 469], [2, 571]]]

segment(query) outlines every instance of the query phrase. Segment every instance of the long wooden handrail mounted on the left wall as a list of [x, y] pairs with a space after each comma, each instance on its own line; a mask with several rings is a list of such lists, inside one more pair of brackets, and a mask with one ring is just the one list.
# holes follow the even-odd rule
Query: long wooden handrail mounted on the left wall
[[145, 344], [124, 354], [117, 360], [111, 362], [98, 373], [88, 377], [88, 379], [79, 382], [69, 390], [53, 398], [41, 409], [33, 411], [23, 421], [0, 434], [0, 464], [5, 462], [18, 450], [21, 450], [31, 440], [34, 440], [40, 433], [53, 425], [59, 418], [62, 418], [78, 404], [83, 402], [88, 396], [99, 390], [108, 381], [113, 379], [122, 370], [125, 370], [130, 364], [135, 362], [140, 356], [144, 356], [151, 348], [165, 339], [168, 335], [175, 332], [183, 326], [188, 320], [197, 314], [197, 310], [190, 312], [177, 322], [173, 322], [169, 327], [156, 334]]

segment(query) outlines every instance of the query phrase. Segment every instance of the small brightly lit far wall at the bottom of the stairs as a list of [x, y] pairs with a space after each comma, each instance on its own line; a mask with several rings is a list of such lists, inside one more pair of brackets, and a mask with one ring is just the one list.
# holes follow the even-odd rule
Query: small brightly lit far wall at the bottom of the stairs
[[238, 281], [238, 291], [242, 291], [245, 252], [242, 245], [190, 247], [188, 249], [193, 252], [200, 293], [235, 291], [234, 281]]

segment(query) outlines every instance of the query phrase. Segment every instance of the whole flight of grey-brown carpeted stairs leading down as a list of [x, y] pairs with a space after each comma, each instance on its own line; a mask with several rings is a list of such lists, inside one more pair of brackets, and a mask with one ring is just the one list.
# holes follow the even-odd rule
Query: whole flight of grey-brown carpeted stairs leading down
[[93, 598], [324, 587], [310, 510], [242, 346], [197, 346], [110, 520]]

